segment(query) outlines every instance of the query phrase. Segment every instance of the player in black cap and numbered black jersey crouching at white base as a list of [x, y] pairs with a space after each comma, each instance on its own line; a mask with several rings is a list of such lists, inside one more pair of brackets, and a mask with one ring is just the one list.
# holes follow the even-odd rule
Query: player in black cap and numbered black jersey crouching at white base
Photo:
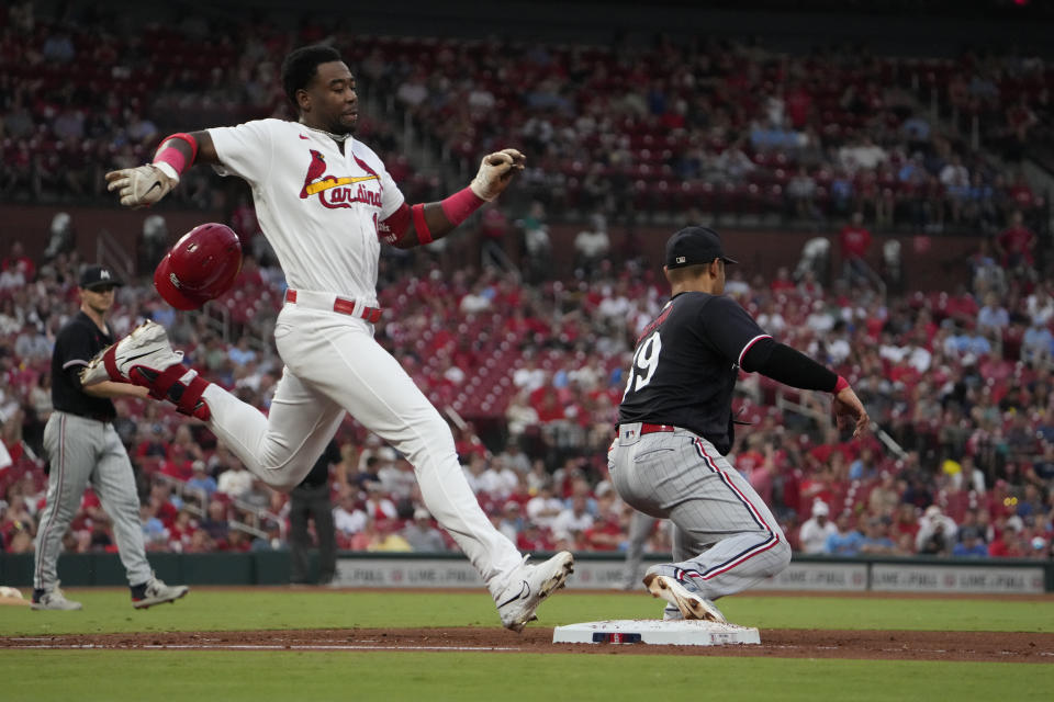
[[672, 296], [638, 340], [608, 454], [621, 498], [673, 522], [674, 563], [644, 575], [648, 590], [668, 602], [664, 619], [724, 622], [714, 600], [790, 562], [772, 512], [725, 457], [740, 370], [832, 393], [838, 427], [854, 427], [855, 437], [870, 423], [844, 378], [773, 340], [724, 296], [725, 265], [735, 262], [706, 227], [687, 227], [666, 242]]

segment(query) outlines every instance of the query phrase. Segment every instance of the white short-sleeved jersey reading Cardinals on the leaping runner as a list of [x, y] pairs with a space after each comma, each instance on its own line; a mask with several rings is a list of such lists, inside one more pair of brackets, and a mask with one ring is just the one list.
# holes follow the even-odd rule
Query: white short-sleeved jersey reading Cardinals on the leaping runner
[[260, 228], [294, 290], [377, 305], [379, 222], [403, 204], [381, 159], [348, 137], [296, 122], [257, 120], [209, 129], [221, 176], [253, 186]]

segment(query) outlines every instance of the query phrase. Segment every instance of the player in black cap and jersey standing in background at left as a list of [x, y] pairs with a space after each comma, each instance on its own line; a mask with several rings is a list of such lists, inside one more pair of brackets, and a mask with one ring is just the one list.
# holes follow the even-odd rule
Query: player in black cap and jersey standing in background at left
[[146, 397], [147, 389], [123, 383], [80, 384], [88, 362], [113, 343], [106, 315], [121, 281], [106, 268], [92, 265], [80, 276], [80, 312], [64, 326], [52, 353], [52, 401], [55, 411], [44, 427], [44, 451], [51, 465], [47, 503], [36, 535], [33, 569], [34, 610], [79, 610], [58, 588], [58, 554], [69, 522], [90, 483], [113, 520], [113, 533], [132, 588], [132, 605], [143, 609], [187, 595], [187, 586], [168, 586], [154, 577], [146, 559], [139, 498], [132, 463], [113, 428], [112, 397]]

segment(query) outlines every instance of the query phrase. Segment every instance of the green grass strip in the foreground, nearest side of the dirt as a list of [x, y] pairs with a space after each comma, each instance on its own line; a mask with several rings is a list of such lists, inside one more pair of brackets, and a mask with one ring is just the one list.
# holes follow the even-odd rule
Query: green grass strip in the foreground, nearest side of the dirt
[[[103, 661], [105, 669], [103, 668]], [[110, 672], [104, 673], [104, 670]], [[88, 675], [104, 683], [78, 687]], [[440, 653], [3, 652], [3, 699], [1049, 700], [1054, 666]], [[985, 691], [988, 691], [986, 693]]]

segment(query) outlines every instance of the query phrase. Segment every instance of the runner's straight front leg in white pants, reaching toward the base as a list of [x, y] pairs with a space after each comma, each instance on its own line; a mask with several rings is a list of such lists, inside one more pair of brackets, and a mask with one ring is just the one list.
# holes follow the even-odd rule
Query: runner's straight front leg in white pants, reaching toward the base
[[449, 427], [403, 367], [374, 341], [369, 325], [347, 316], [326, 317], [329, 326], [311, 336], [306, 352], [287, 353], [279, 338], [282, 358], [298, 376], [407, 457], [425, 507], [496, 595], [522, 557], [480, 509], [458, 462]]

